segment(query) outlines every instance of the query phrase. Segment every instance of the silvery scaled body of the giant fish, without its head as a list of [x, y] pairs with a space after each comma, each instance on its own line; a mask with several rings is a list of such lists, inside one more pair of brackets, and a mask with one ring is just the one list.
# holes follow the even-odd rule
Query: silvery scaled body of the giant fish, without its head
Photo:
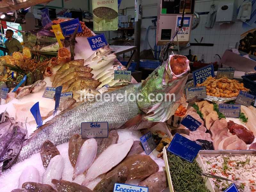
[[[127, 98], [130, 93], [137, 95], [140, 84], [132, 84], [122, 89], [108, 93], [124, 95], [127, 92]], [[103, 98], [104, 98], [103, 94]], [[117, 129], [126, 121], [136, 116], [139, 108], [136, 100], [116, 100], [116, 95], [110, 101], [102, 100], [95, 102], [84, 102], [81, 105], [67, 111], [51, 120], [51, 124], [44, 127], [43, 130], [36, 133], [28, 143], [22, 147], [17, 162], [27, 159], [37, 153], [45, 140], [50, 140], [55, 146], [67, 142], [73, 134], [81, 134], [82, 122], [108, 122], [109, 130]]]

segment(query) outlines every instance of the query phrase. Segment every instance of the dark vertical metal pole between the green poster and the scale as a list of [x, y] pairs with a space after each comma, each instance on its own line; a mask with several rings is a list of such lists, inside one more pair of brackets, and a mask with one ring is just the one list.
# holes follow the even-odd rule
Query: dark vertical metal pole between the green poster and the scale
[[140, 68], [140, 29], [141, 29], [141, 0], [135, 0], [135, 29], [134, 29], [134, 45], [137, 47], [135, 54], [136, 70]]

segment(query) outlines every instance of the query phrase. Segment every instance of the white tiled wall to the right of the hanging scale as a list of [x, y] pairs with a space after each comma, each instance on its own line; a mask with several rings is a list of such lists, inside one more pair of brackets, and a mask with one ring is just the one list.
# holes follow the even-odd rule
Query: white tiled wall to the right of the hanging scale
[[[220, 0], [214, 1], [217, 5]], [[195, 11], [196, 12], [209, 12], [213, 1], [196, 1]], [[198, 60], [202, 59], [204, 55], [204, 60], [206, 62], [215, 62], [220, 59], [216, 57], [213, 58], [215, 54], [219, 54], [222, 57], [223, 53], [230, 45], [235, 45], [239, 43], [240, 35], [242, 34], [242, 22], [236, 20], [234, 24], [225, 23], [219, 25], [215, 22], [213, 28], [205, 28], [204, 24], [206, 22], [207, 15], [200, 15], [199, 26], [192, 30], [190, 43], [196, 43], [196, 40], [200, 43], [201, 38], [203, 38], [202, 43], [211, 43], [214, 46], [190, 46], [186, 49], [181, 50], [181, 54], [188, 55], [189, 49], [191, 49], [191, 54], [196, 55]]]

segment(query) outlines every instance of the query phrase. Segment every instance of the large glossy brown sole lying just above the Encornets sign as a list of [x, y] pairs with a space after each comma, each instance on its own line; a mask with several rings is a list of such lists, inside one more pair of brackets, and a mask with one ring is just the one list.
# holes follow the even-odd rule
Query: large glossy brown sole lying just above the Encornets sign
[[156, 162], [148, 155], [131, 155], [112, 171], [108, 172], [95, 186], [93, 192], [112, 192], [115, 183], [144, 179], [159, 170]]

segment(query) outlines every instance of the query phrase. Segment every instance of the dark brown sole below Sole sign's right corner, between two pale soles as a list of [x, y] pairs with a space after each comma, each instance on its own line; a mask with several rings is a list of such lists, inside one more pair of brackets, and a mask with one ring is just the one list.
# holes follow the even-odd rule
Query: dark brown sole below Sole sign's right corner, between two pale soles
[[108, 133], [107, 138], [103, 138], [98, 146], [97, 155], [98, 157], [106, 148], [108, 148], [112, 144], [116, 144], [118, 141], [119, 135], [116, 130], [111, 130]]

